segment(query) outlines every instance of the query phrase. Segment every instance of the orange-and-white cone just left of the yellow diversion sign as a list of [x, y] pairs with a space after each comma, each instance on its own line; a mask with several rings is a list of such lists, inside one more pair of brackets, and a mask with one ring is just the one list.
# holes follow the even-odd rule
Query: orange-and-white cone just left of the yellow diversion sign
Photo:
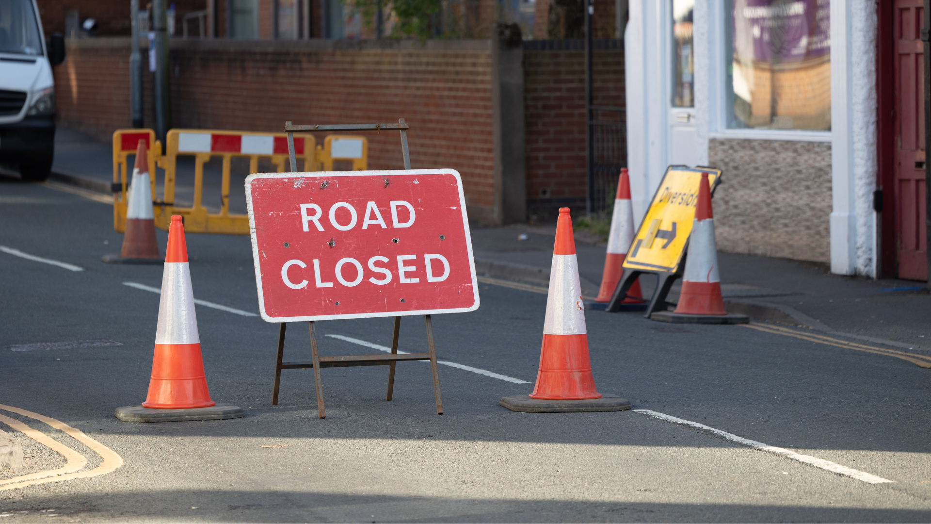
[[[614, 198], [614, 214], [611, 216], [611, 232], [608, 234], [608, 253], [604, 255], [604, 272], [601, 274], [601, 288], [598, 291], [598, 298], [591, 304], [592, 310], [604, 310], [611, 302], [611, 296], [614, 295], [614, 289], [624, 274], [621, 265], [627, 257], [627, 248], [630, 242], [634, 240], [637, 228], [634, 227], [634, 209], [630, 205], [630, 177], [627, 176], [627, 168], [621, 168], [621, 174], [617, 180], [617, 196]], [[645, 304], [642, 300], [631, 298], [631, 296], [643, 296], [640, 288], [640, 278], [627, 290], [627, 298], [621, 304], [640, 306]], [[629, 308], [629, 306], [628, 306]]]

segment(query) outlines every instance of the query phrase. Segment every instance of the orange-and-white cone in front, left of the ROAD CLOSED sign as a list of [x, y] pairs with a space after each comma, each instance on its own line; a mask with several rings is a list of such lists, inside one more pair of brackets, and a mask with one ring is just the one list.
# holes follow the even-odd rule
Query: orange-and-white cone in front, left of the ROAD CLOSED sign
[[[124, 416], [121, 416], [121, 410]], [[123, 421], [202, 421], [242, 417], [241, 408], [218, 405], [210, 400], [204, 361], [200, 355], [194, 292], [181, 216], [172, 216], [169, 226], [149, 393], [140, 407], [117, 408], [116, 417]], [[150, 420], [139, 420], [139, 417]]]

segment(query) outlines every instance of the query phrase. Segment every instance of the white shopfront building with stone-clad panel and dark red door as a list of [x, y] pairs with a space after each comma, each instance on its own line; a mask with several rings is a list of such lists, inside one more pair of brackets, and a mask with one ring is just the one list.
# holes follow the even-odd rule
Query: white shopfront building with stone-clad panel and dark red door
[[635, 209], [669, 164], [719, 167], [722, 250], [926, 280], [921, 5], [631, 0]]

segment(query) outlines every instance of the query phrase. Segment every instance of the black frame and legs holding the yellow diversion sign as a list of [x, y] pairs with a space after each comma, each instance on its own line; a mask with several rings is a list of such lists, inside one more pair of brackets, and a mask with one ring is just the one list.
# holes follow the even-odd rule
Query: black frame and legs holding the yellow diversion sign
[[[718, 176], [715, 177], [714, 182], [711, 184], [711, 198], [714, 198], [714, 191], [721, 184], [721, 179], [723, 172], [718, 168], [711, 168], [707, 166], [695, 166], [690, 168], [688, 166], [668, 166], [666, 172], [669, 172], [673, 169], [686, 169], [689, 171], [695, 172], [708, 172], [713, 171], [717, 172]], [[666, 180], [666, 175], [663, 175], [663, 180]], [[650, 199], [650, 206], [653, 206], [653, 202], [656, 200], [656, 196], [663, 189], [663, 183], [660, 181], [659, 186], [656, 186], [656, 191], [654, 192], [653, 198]], [[648, 209], [649, 212], [649, 209]], [[644, 214], [646, 216], [648, 213]], [[640, 228], [637, 228], [637, 232], [634, 235], [631, 246], [627, 249], [627, 253], [630, 253], [630, 249], [633, 248], [633, 244], [636, 243], [637, 237], [640, 236], [642, 228], [648, 228], [649, 225], [646, 224], [644, 219], [641, 222]], [[666, 296], [669, 294], [669, 290], [672, 289], [672, 284], [676, 282], [676, 279], [682, 276], [682, 271], [685, 269], [686, 257], [688, 255], [689, 241], [691, 241], [691, 229], [689, 230], [689, 239], [684, 242], [682, 245], [682, 253], [679, 257], [679, 263], [675, 266], [675, 269], [672, 271], [663, 270], [663, 269], [645, 269], [645, 268], [624, 268], [624, 273], [621, 275], [621, 280], [618, 281], [617, 287], [614, 288], [614, 295], [611, 296], [611, 300], [608, 302], [608, 306], [605, 310], [609, 312], [617, 312], [624, 310], [622, 302], [625, 298], [636, 298], [638, 300], [646, 300], [641, 296], [629, 296], [627, 291], [630, 289], [630, 286], [637, 281], [637, 278], [642, 274], [656, 275], [656, 288], [653, 292], [653, 297], [650, 298], [649, 303], [647, 304], [646, 311], [643, 313], [644, 318], [650, 318], [657, 310], [667, 310], [669, 306], [675, 306], [675, 303], [668, 302]], [[625, 264], [627, 259], [625, 259]]]

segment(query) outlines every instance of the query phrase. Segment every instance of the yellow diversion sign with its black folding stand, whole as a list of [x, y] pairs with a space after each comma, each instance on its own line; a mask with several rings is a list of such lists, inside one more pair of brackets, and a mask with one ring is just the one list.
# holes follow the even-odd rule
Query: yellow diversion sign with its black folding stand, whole
[[[681, 278], [688, 253], [688, 238], [695, 218], [697, 183], [701, 173], [711, 176], [711, 195], [721, 183], [721, 170], [698, 166], [669, 166], [654, 198], [631, 241], [624, 259], [624, 273], [614, 288], [614, 295], [605, 310], [623, 310], [621, 302], [628, 297], [630, 286], [643, 274], [656, 275], [656, 289], [646, 307], [644, 318], [656, 311], [668, 310], [676, 304], [666, 297], [672, 284]], [[631, 296], [641, 298], [640, 296]]]

